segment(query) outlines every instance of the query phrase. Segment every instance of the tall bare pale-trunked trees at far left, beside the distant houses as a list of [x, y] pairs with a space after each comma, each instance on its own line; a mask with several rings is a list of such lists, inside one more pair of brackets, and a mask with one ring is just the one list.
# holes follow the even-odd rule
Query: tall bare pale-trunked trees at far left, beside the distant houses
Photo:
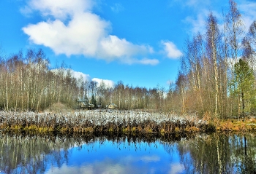
[[51, 71], [42, 50], [28, 50], [0, 60], [0, 107], [4, 110], [40, 111], [53, 103], [75, 103], [78, 85], [61, 66]]

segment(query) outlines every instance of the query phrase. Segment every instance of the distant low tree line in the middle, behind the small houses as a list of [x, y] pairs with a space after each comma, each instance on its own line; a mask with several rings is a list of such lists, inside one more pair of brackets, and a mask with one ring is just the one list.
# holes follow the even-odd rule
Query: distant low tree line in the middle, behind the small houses
[[103, 81], [83, 82], [81, 77], [79, 83], [79, 98], [89, 100], [94, 105], [106, 106], [115, 103], [121, 109], [153, 108], [162, 109], [167, 107], [165, 101], [166, 91], [164, 88], [156, 87], [146, 89], [145, 87], [132, 87], [124, 85], [119, 81], [115, 87], [108, 87]]

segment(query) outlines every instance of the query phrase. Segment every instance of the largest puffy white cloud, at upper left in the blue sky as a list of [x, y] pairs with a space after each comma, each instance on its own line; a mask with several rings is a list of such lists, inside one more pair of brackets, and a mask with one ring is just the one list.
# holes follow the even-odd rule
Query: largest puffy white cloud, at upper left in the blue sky
[[121, 63], [157, 63], [157, 60], [140, 61], [141, 56], [152, 52], [152, 47], [110, 35], [110, 22], [94, 14], [93, 7], [90, 0], [30, 0], [23, 12], [36, 10], [48, 20], [22, 29], [32, 43], [50, 47], [56, 54], [85, 55]]

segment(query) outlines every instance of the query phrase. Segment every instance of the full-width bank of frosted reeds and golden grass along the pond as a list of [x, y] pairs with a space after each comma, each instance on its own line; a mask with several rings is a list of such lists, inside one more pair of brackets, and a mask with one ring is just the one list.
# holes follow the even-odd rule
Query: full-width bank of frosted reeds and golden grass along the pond
[[[0, 131], [44, 135], [170, 135], [173, 133], [253, 132], [256, 119], [211, 119], [152, 111], [110, 109], [71, 112], [0, 111]], [[0, 132], [0, 133], [1, 133]]]

